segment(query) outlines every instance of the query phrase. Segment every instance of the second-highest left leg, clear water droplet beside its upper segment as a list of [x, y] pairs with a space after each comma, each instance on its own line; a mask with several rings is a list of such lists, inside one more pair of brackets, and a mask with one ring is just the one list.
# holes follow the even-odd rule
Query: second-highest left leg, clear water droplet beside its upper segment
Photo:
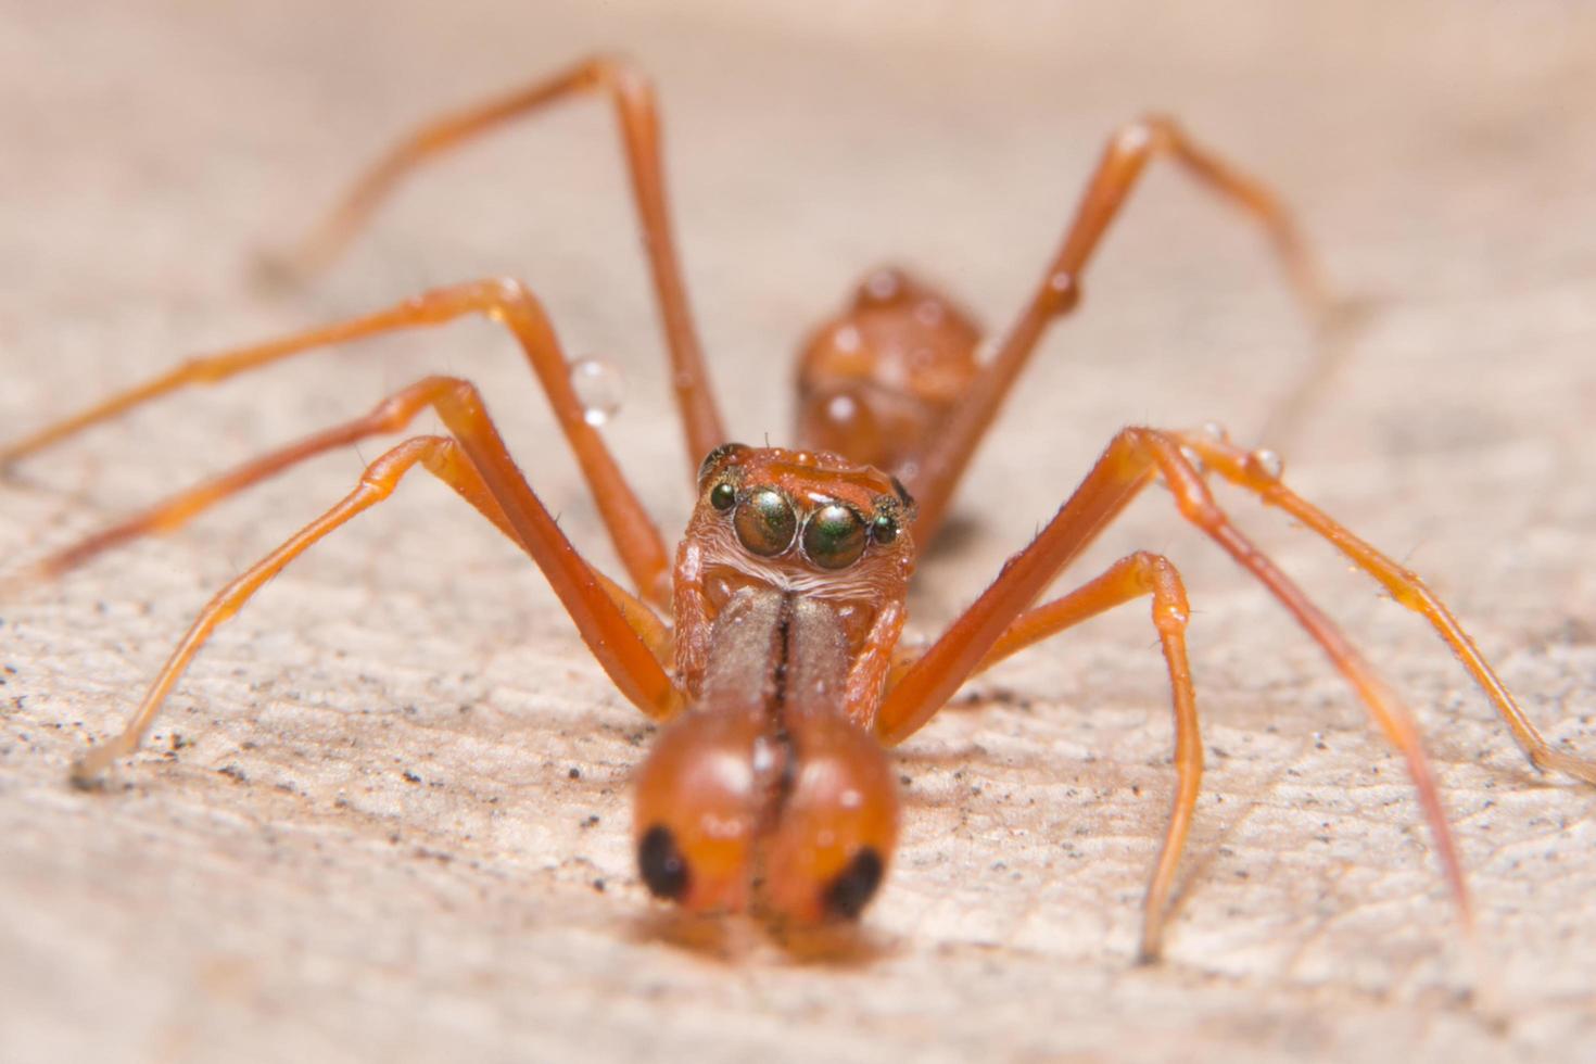
[[[75, 416], [48, 424], [32, 435], [0, 447], [0, 466], [190, 384], [214, 384], [318, 348], [402, 329], [442, 325], [466, 314], [482, 314], [514, 333], [549, 396], [560, 429], [592, 487], [598, 512], [610, 530], [610, 538], [614, 541], [616, 554], [621, 555], [627, 574], [643, 598], [656, 605], [667, 605], [670, 601], [670, 558], [666, 554], [664, 541], [643, 510], [643, 504], [626, 483], [626, 477], [621, 475], [621, 469], [605, 447], [598, 429], [587, 423], [583, 404], [571, 386], [565, 353], [554, 335], [554, 327], [538, 298], [519, 281], [474, 281], [433, 289], [375, 314], [190, 359], [161, 376], [117, 392]], [[327, 443], [327, 447], [330, 445]]]

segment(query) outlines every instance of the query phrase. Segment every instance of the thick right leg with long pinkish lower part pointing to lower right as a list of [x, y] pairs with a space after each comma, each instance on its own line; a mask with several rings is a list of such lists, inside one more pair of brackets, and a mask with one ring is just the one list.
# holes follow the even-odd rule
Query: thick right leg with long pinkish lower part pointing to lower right
[[1156, 429], [1130, 428], [1116, 434], [1080, 487], [1036, 539], [1004, 565], [998, 579], [918, 660], [902, 670], [881, 702], [875, 719], [876, 734], [883, 742], [897, 743], [922, 727], [953, 692], [990, 660], [994, 649], [1001, 648], [1015, 621], [1060, 569], [1074, 560], [1141, 488], [1162, 477], [1175, 496], [1179, 514], [1259, 579], [1296, 617], [1358, 692], [1387, 740], [1403, 755], [1419, 806], [1435, 837], [1448, 887], [1457, 903], [1464, 928], [1472, 933], [1473, 906], [1462, 861], [1412, 715], [1374, 675], [1341, 629], [1231, 523], [1181, 445], [1179, 437]]

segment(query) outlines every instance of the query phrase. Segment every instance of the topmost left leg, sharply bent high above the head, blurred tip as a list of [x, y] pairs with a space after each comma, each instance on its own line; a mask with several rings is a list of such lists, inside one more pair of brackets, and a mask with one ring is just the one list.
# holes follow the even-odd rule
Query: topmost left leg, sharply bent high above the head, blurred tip
[[670, 212], [666, 209], [654, 89], [630, 64], [608, 57], [587, 59], [552, 78], [420, 126], [365, 171], [286, 265], [294, 273], [326, 266], [417, 166], [543, 107], [592, 91], [606, 93], [619, 118], [632, 195], [643, 227], [643, 250], [648, 254], [654, 297], [659, 300], [666, 345], [670, 349], [672, 386], [681, 408], [688, 458], [697, 471], [699, 459], [726, 442], [726, 432], [715, 407], [697, 330], [693, 327], [675, 236], [670, 231]]

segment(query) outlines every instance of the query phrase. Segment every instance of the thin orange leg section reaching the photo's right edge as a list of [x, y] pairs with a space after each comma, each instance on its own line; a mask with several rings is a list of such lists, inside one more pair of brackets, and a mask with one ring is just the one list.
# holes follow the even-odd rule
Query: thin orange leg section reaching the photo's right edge
[[1376, 550], [1373, 546], [1355, 536], [1345, 525], [1334, 520], [1312, 502], [1280, 482], [1280, 469], [1261, 459], [1258, 451], [1243, 451], [1223, 439], [1208, 432], [1178, 432], [1181, 443], [1191, 448], [1216, 474], [1256, 495], [1266, 506], [1278, 506], [1282, 510], [1312, 528], [1353, 565], [1373, 576], [1398, 603], [1412, 609], [1435, 629], [1446, 644], [1464, 664], [1468, 675], [1486, 692], [1497, 713], [1507, 721], [1508, 731], [1518, 742], [1529, 763], [1540, 770], [1556, 770], [1596, 783], [1596, 763], [1575, 758], [1553, 748], [1535, 731], [1535, 726], [1519, 708], [1513, 692], [1495, 675], [1491, 664], [1475, 646], [1473, 638], [1464, 630], [1457, 617], [1446, 603], [1436, 598], [1417, 573], [1396, 565], [1393, 560]]

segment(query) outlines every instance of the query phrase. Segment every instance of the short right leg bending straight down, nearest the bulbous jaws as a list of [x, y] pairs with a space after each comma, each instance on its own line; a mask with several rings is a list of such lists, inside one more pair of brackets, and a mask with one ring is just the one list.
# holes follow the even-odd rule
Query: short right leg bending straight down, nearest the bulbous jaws
[[1186, 849], [1192, 814], [1197, 810], [1197, 791], [1202, 786], [1197, 691], [1192, 686], [1191, 664], [1186, 657], [1186, 622], [1191, 608], [1186, 603], [1186, 585], [1181, 582], [1181, 574], [1168, 558], [1157, 554], [1141, 550], [1120, 558], [1095, 581], [1015, 617], [977, 665], [977, 672], [1143, 595], [1152, 597], [1152, 624], [1163, 644], [1163, 660], [1170, 670], [1170, 696], [1175, 708], [1175, 796], [1170, 825], [1163, 833], [1163, 845], [1159, 849], [1159, 860], [1148, 879], [1148, 897], [1141, 917], [1141, 959], [1156, 960], [1163, 944], [1163, 922], [1168, 917], [1175, 871], [1179, 868], [1181, 852]]

